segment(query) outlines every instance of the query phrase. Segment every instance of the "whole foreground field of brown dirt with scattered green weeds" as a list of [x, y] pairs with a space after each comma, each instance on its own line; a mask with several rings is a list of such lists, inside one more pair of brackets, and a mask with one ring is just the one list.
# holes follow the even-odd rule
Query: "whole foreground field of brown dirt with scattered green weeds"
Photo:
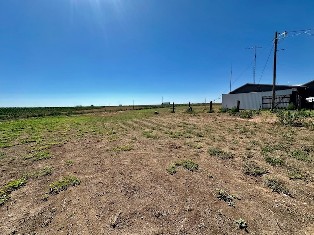
[[313, 235], [313, 118], [208, 108], [1, 121], [0, 235]]

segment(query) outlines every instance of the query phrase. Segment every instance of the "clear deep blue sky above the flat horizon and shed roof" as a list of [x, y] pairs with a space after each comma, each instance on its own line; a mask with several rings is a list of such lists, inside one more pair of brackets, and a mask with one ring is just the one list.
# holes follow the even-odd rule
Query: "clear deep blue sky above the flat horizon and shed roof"
[[262, 47], [255, 83], [272, 83], [275, 31], [289, 32], [278, 84], [306, 83], [314, 30], [291, 31], [314, 29], [313, 12], [312, 0], [0, 0], [0, 107], [221, 102], [231, 64], [231, 90], [253, 82], [246, 48]]

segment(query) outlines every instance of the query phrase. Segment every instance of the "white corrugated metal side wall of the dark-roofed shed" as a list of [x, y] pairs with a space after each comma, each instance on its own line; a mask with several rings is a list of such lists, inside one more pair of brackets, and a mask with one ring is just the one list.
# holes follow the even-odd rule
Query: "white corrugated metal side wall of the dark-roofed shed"
[[[276, 95], [292, 94], [292, 89], [276, 91]], [[221, 107], [231, 109], [240, 100], [240, 109], [254, 110], [262, 105], [263, 96], [271, 96], [272, 92], [251, 92], [238, 94], [222, 94]], [[261, 106], [262, 107], [262, 106]]]

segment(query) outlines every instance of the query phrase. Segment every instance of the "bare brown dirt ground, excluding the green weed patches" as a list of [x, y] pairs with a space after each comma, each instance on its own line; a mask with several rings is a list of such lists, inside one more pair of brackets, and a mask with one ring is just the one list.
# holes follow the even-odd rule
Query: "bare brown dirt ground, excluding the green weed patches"
[[[275, 149], [268, 154], [284, 159], [290, 168], [272, 166], [264, 161], [261, 148], [288, 141], [290, 151], [301, 145], [312, 148], [314, 133], [281, 127], [274, 120], [265, 115], [247, 120], [166, 110], [149, 118], [105, 123], [111, 133], [69, 135], [64, 144], [49, 149], [50, 159], [21, 160], [36, 143], [2, 148], [1, 186], [23, 172], [42, 167], [53, 167], [53, 172], [30, 178], [11, 193], [0, 207], [0, 235], [313, 235], [313, 163]], [[118, 151], [118, 146], [133, 149]], [[229, 151], [233, 158], [211, 156], [209, 148]], [[312, 157], [313, 152], [308, 154]], [[176, 166], [179, 172], [167, 171], [175, 161], [185, 159], [195, 161], [199, 169], [192, 172]], [[65, 164], [68, 160], [74, 162]], [[243, 171], [247, 162], [269, 173], [247, 175]], [[305, 178], [289, 179], [291, 167]], [[66, 175], [78, 177], [81, 183], [42, 200], [49, 184]], [[289, 193], [272, 192], [264, 183], [266, 177], [279, 178]], [[237, 194], [235, 206], [219, 200], [216, 188]], [[247, 229], [235, 223], [239, 218], [247, 222]]]

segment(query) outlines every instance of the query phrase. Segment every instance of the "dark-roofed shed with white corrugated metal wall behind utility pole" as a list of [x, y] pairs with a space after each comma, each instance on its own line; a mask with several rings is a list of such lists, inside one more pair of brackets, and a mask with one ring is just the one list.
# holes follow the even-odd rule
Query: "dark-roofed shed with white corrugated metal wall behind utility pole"
[[[229, 94], [222, 94], [222, 107], [231, 109], [240, 101], [240, 109], [254, 110], [271, 108], [272, 101], [271, 84], [247, 83]], [[276, 85], [274, 108], [286, 108], [290, 103], [298, 106], [301, 97], [301, 107], [312, 106], [311, 98], [314, 97], [314, 80], [301, 85]]]

